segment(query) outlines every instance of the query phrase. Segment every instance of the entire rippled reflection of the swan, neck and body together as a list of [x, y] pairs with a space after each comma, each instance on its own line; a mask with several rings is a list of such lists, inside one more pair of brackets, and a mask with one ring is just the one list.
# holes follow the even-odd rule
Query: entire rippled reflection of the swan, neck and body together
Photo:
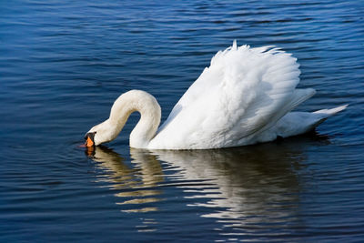
[[[305, 158], [301, 151], [307, 144], [307, 140], [290, 139], [215, 150], [130, 149], [132, 167], [114, 151], [96, 147], [93, 159], [108, 172], [100, 180], [121, 190], [116, 197], [126, 198], [118, 204], [139, 206], [124, 211], [158, 210], [162, 187], [168, 184], [184, 191], [188, 206], [211, 208], [203, 217], [217, 218], [226, 226], [267, 223], [271, 227], [297, 221], [300, 161]], [[143, 207], [149, 203], [154, 207]]]

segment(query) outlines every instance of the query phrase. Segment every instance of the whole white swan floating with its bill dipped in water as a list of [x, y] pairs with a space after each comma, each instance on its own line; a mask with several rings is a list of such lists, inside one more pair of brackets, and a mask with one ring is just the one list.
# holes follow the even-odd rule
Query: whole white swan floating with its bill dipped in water
[[278, 48], [238, 47], [234, 42], [211, 59], [159, 129], [156, 98], [131, 90], [116, 99], [105, 122], [87, 132], [86, 146], [115, 139], [135, 111], [141, 116], [130, 147], [207, 149], [302, 134], [346, 108], [290, 112], [315, 94], [311, 88], [296, 88], [299, 74], [297, 59]]

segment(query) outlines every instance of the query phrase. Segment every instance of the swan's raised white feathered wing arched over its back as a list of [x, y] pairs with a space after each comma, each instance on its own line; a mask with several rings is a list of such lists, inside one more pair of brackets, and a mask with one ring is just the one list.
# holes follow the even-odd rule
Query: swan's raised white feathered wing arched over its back
[[[232, 147], [259, 132], [313, 96], [296, 89], [297, 59], [265, 46], [236, 43], [220, 51], [173, 108], [154, 144], [166, 148]], [[153, 144], [153, 143], [152, 143]]]

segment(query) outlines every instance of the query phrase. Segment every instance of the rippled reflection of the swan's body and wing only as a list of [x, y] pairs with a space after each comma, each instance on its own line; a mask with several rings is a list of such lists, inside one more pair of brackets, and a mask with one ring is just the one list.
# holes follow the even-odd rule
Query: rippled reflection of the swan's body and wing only
[[[154, 151], [179, 168], [189, 206], [212, 208], [203, 215], [230, 227], [294, 219], [303, 155], [294, 146], [267, 144], [218, 150]], [[196, 182], [201, 181], [201, 185]], [[205, 198], [206, 200], [202, 200]]]

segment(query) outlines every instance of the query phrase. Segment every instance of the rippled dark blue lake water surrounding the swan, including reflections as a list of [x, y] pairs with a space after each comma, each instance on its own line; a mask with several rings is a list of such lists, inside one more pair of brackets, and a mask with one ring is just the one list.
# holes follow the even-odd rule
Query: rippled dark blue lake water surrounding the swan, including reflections
[[[363, 1], [0, 2], [0, 241], [360, 242]], [[298, 57], [316, 135], [206, 151], [78, 147], [130, 89], [163, 120], [218, 50]]]

